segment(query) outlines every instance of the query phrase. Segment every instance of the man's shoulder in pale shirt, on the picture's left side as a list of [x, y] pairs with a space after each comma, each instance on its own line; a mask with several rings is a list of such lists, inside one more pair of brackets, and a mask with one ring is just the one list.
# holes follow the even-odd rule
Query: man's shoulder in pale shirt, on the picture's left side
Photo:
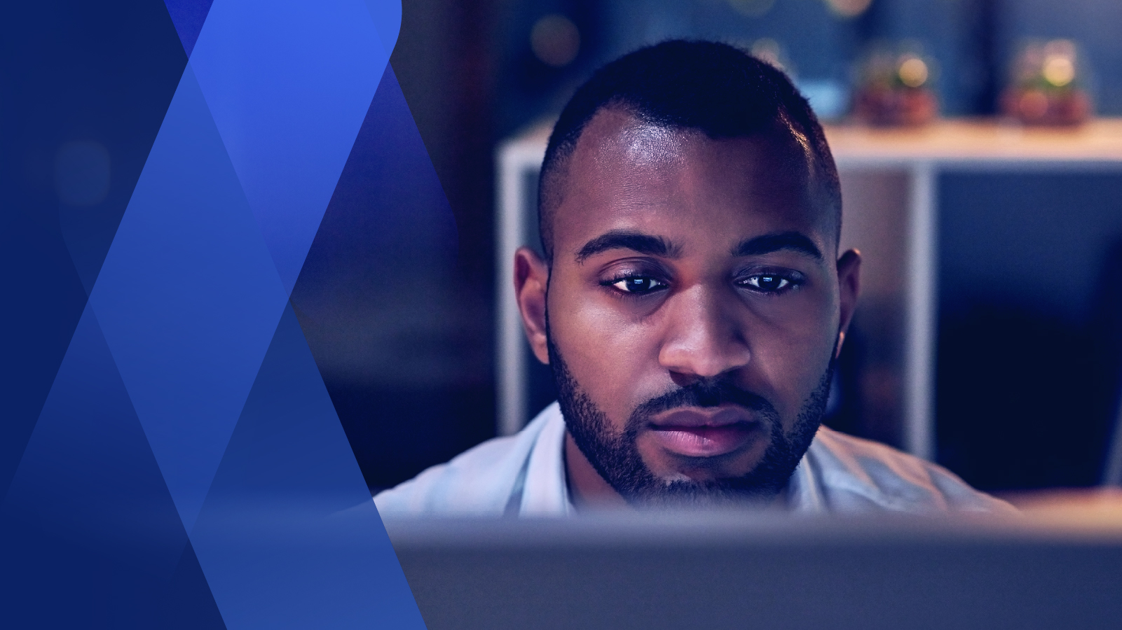
[[548, 407], [516, 435], [488, 439], [374, 498], [381, 515], [502, 515], [516, 491]]

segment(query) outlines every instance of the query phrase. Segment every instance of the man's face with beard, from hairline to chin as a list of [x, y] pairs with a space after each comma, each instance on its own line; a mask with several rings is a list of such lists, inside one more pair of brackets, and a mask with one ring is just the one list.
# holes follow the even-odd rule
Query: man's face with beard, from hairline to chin
[[772, 495], [809, 445], [848, 317], [809, 173], [780, 133], [714, 140], [609, 109], [581, 135], [534, 345], [624, 498]]

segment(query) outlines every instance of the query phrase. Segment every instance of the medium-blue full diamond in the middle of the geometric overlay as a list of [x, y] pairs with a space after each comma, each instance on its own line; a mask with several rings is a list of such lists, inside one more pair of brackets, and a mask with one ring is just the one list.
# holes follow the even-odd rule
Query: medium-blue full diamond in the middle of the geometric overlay
[[188, 65], [90, 296], [188, 531], [286, 298]]

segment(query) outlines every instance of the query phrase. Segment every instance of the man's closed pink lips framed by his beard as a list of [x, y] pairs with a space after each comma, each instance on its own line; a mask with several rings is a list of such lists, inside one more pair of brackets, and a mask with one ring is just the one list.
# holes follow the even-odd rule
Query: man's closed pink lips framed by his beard
[[727, 455], [752, 442], [762, 428], [742, 407], [674, 409], [655, 416], [649, 426], [659, 446], [686, 457]]

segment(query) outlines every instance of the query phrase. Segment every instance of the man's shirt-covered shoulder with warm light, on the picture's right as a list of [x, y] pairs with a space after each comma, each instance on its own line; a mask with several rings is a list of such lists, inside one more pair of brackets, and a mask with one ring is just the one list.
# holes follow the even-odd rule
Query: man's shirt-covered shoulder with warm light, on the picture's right
[[868, 439], [821, 427], [807, 451], [831, 510], [1015, 512], [950, 471]]

